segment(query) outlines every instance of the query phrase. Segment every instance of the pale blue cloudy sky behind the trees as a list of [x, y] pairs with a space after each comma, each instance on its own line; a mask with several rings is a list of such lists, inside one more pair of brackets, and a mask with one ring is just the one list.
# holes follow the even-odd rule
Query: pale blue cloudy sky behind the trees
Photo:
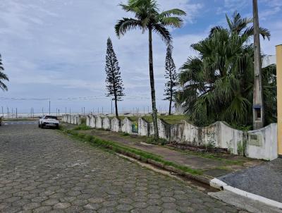
[[[261, 41], [264, 54], [275, 54], [282, 44], [282, 1], [258, 0], [259, 22], [271, 31], [271, 40]], [[8, 92], [0, 91], [0, 107], [11, 112], [111, 111], [106, 97], [106, 39], [111, 37], [121, 66], [125, 87], [119, 110], [147, 111], [151, 107], [148, 65], [148, 35], [139, 30], [118, 39], [118, 19], [133, 17], [122, 11], [120, 0], [1, 0], [0, 54], [10, 81]], [[252, 17], [251, 0], [158, 0], [161, 11], [181, 8], [188, 15], [173, 35], [176, 68], [189, 56], [197, 56], [190, 45], [209, 34], [215, 25], [226, 27], [226, 13], [238, 11]], [[164, 99], [164, 42], [154, 35], [154, 75], [157, 108], [168, 111]], [[0, 108], [1, 114], [1, 108]]]

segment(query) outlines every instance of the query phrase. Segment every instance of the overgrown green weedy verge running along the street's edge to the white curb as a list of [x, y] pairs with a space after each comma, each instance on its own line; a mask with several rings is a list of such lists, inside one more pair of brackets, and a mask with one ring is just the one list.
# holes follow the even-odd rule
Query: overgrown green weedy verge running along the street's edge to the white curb
[[92, 135], [77, 133], [75, 130], [66, 130], [66, 129], [61, 129], [61, 130], [63, 131], [63, 133], [71, 135], [75, 139], [84, 142], [89, 142], [90, 145], [92, 146], [113, 150], [114, 152], [125, 154], [128, 155], [129, 157], [133, 157], [135, 159], [141, 160], [142, 162], [154, 164], [155, 166], [159, 166], [169, 171], [176, 172], [183, 176], [187, 176], [188, 178], [193, 178], [197, 181], [207, 183], [208, 178], [202, 176], [202, 171], [198, 169], [191, 169], [188, 166], [181, 166], [173, 162], [168, 162], [162, 159], [161, 156], [149, 152], [144, 152], [142, 150], [137, 150], [135, 148], [119, 145], [117, 142], [102, 140]]

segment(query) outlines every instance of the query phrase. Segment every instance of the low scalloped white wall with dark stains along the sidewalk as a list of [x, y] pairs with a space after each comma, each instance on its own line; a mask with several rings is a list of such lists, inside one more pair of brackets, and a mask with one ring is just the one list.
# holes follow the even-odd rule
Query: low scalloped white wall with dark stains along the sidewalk
[[[63, 115], [63, 122], [80, 124], [79, 115]], [[87, 116], [86, 125], [91, 128], [103, 128], [114, 132], [154, 136], [153, 123], [138, 118], [137, 122], [124, 118], [109, 118], [107, 116]], [[181, 121], [169, 124], [158, 119], [159, 137], [168, 141], [183, 142], [193, 146], [214, 145], [228, 149], [233, 154], [245, 154], [255, 159], [273, 160], [278, 157], [277, 124], [273, 123], [260, 130], [244, 132], [236, 130], [225, 122], [216, 122], [207, 127], [197, 127]]]

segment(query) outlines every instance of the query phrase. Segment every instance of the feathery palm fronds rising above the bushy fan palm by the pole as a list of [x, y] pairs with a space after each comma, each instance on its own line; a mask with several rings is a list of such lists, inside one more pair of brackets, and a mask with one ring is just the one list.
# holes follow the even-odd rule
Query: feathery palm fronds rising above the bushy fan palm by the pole
[[[240, 13], [238, 13], [238, 11], [235, 11], [231, 18], [228, 17], [226, 14], [226, 21], [228, 24], [229, 32], [235, 33], [237, 35], [244, 35], [247, 37], [254, 35], [254, 26], [253, 25], [248, 26], [250, 23], [253, 23], [252, 18], [242, 18]], [[212, 35], [214, 30], [219, 30], [219, 29], [222, 29], [222, 27], [216, 26], [212, 28], [210, 35]], [[259, 33], [260, 35], [262, 35], [263, 39], [265, 38], [270, 39], [271, 34], [269, 30], [267, 30], [266, 28], [259, 28]]]

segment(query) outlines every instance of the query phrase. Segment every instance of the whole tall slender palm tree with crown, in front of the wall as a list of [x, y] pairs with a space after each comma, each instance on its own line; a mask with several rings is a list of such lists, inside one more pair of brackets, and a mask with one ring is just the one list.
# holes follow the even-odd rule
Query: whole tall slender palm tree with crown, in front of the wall
[[159, 138], [157, 126], [157, 107], [154, 89], [154, 66], [153, 66], [153, 48], [152, 32], [156, 32], [163, 41], [169, 45], [172, 37], [167, 27], [180, 28], [183, 20], [179, 16], [185, 16], [186, 13], [178, 8], [159, 12], [157, 1], [155, 0], [128, 0], [128, 4], [119, 4], [124, 11], [131, 12], [135, 18], [123, 18], [116, 23], [116, 35], [121, 37], [129, 30], [140, 29], [142, 32], [149, 32], [149, 78], [152, 97], [152, 117], [154, 122], [154, 138]]

